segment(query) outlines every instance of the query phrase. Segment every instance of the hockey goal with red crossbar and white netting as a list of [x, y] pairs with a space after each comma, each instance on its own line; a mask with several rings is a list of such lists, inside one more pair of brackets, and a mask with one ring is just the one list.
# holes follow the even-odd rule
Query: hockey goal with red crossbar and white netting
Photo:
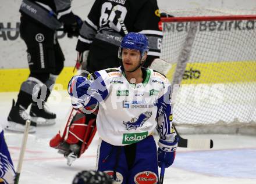
[[161, 58], [171, 65], [176, 128], [186, 134], [255, 135], [256, 15], [167, 13], [175, 17], [161, 19]]

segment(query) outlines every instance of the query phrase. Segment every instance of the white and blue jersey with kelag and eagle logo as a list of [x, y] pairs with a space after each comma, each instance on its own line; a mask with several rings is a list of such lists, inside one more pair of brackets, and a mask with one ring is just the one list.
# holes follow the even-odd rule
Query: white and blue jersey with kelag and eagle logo
[[[69, 94], [75, 108], [85, 108], [99, 103], [97, 130], [105, 142], [124, 146], [139, 142], [151, 135], [157, 127], [159, 137], [173, 141], [170, 83], [157, 71], [142, 68], [143, 82], [127, 81], [119, 68], [96, 71], [87, 77], [87, 95], [75, 98], [73, 81]], [[81, 76], [79, 76], [81, 77]]]

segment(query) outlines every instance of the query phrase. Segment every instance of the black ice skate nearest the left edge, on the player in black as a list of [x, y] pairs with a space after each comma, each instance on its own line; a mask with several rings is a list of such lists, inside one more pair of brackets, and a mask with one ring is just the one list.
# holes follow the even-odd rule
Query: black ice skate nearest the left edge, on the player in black
[[[5, 129], [14, 132], [24, 132], [26, 121], [30, 120], [30, 116], [23, 106], [15, 106], [15, 100], [13, 100], [12, 109], [10, 110], [7, 120], [8, 124], [6, 125]], [[36, 126], [36, 122], [31, 121], [29, 133], [34, 133]]]

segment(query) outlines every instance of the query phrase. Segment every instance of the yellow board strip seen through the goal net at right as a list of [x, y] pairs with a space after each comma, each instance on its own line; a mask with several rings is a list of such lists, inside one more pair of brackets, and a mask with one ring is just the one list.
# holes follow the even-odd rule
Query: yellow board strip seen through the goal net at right
[[[172, 76], [176, 65], [166, 74], [166, 77], [172, 81]], [[196, 72], [195, 77], [188, 77], [192, 72]], [[198, 77], [200, 71], [200, 77]], [[225, 84], [225, 83], [243, 83], [256, 82], [256, 61], [243, 62], [208, 62], [208, 63], [187, 63], [186, 80], [182, 84]]]

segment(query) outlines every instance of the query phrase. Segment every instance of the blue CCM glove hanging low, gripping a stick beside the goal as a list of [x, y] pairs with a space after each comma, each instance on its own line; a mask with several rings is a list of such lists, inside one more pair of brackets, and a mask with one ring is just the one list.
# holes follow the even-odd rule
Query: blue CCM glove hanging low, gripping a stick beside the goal
[[175, 159], [177, 138], [174, 142], [159, 139], [158, 146], [158, 167], [161, 168], [163, 163], [165, 163], [166, 168], [170, 167]]

